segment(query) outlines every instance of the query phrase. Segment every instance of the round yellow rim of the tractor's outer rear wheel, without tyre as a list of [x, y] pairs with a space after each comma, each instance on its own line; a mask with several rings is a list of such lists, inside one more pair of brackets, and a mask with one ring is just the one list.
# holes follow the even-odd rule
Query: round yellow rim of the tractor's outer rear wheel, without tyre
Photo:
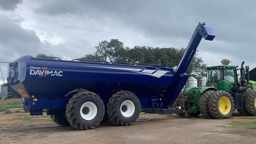
[[231, 102], [228, 97], [223, 96], [221, 99], [219, 99], [219, 111], [222, 114], [228, 114], [230, 110], [231, 110]]

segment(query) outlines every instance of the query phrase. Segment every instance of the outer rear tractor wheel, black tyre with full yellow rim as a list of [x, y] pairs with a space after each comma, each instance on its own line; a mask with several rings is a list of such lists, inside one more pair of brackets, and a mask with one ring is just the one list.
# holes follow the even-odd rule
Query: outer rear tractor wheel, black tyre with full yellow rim
[[213, 118], [230, 118], [234, 111], [234, 100], [228, 92], [217, 90], [211, 94], [208, 108]]

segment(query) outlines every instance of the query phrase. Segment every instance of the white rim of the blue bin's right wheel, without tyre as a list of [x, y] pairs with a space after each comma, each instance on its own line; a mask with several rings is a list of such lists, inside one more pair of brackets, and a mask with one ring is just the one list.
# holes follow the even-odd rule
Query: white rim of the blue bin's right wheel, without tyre
[[135, 106], [134, 103], [130, 100], [122, 102], [120, 107], [121, 114], [125, 117], [130, 117], [134, 114]]

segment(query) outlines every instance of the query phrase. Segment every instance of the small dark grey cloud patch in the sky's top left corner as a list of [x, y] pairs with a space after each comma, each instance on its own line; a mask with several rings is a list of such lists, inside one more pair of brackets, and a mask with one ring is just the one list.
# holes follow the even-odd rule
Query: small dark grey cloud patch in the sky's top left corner
[[22, 0], [0, 0], [0, 9], [13, 11]]

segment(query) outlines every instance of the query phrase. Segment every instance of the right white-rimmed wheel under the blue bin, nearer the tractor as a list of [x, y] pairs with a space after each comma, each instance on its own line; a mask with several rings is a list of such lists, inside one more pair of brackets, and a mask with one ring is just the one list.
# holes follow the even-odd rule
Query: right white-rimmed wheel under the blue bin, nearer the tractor
[[130, 126], [141, 113], [141, 103], [130, 91], [119, 91], [109, 99], [108, 117], [117, 126]]

